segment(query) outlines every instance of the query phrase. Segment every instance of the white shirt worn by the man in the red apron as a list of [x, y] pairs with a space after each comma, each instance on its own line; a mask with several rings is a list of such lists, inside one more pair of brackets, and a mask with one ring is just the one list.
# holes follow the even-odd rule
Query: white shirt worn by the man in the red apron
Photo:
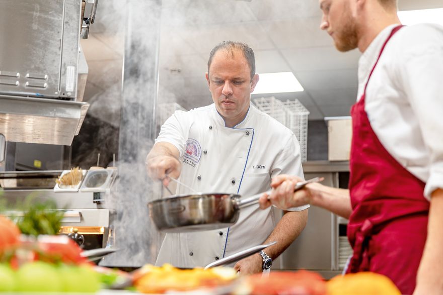
[[[395, 26], [360, 57], [357, 99]], [[386, 150], [426, 183], [423, 194], [430, 200], [443, 188], [443, 27], [420, 24], [394, 34], [367, 85], [365, 111]]]

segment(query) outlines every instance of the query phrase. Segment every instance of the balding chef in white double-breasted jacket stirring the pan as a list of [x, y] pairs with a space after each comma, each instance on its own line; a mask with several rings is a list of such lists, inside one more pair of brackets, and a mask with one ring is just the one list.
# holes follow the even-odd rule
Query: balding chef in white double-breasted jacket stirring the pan
[[[259, 80], [252, 49], [225, 41], [211, 51], [206, 73], [214, 104], [189, 112], [177, 111], [162, 126], [146, 166], [154, 179], [169, 183], [166, 174], [202, 192], [239, 193], [243, 198], [270, 188], [280, 173], [303, 178], [300, 145], [294, 134], [250, 104]], [[190, 193], [178, 184], [177, 194]], [[309, 206], [285, 212], [242, 209], [232, 227], [167, 234], [157, 265], [204, 266], [264, 242], [277, 241], [260, 254], [235, 264], [242, 274], [270, 267], [304, 229]], [[267, 262], [267, 263], [264, 263]]]

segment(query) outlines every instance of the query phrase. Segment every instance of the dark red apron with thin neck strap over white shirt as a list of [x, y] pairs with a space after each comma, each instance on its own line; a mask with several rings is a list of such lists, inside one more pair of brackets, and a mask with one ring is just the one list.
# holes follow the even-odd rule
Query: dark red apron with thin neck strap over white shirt
[[[380, 56], [395, 27], [385, 41]], [[429, 202], [425, 183], [383, 147], [364, 111], [367, 82], [352, 106], [349, 190], [352, 214], [347, 234], [354, 250], [348, 272], [373, 271], [391, 278], [402, 294], [412, 294], [427, 234]]]

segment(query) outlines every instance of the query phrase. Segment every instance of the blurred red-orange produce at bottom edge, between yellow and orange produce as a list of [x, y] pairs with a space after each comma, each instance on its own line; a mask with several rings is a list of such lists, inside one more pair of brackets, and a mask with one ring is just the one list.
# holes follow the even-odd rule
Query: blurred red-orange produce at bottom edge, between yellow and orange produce
[[[261, 273], [249, 276], [244, 284], [249, 285], [251, 295], [327, 295], [323, 277], [307, 270], [271, 271], [269, 275]], [[242, 292], [239, 292], [242, 293]], [[355, 294], [354, 294], [355, 295]]]

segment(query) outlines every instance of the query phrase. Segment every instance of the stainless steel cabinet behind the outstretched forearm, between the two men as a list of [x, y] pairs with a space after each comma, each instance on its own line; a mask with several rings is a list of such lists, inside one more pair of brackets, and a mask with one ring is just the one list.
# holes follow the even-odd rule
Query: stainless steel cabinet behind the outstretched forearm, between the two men
[[[323, 184], [347, 187], [348, 161], [309, 161], [303, 163], [305, 178], [324, 177]], [[319, 207], [309, 208], [308, 224], [296, 241], [281, 255], [275, 268], [308, 269], [329, 279], [341, 273], [350, 247], [345, 233], [346, 220]], [[351, 252], [352, 253], [352, 252]]]

